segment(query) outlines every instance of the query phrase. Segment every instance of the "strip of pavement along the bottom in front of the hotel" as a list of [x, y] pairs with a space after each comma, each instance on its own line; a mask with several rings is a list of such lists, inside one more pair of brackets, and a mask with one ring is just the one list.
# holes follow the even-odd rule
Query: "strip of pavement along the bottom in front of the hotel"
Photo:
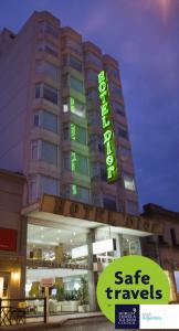
[[[7, 330], [48, 330], [52, 328], [59, 328], [65, 324], [67, 321], [77, 321], [77, 320], [85, 320], [85, 319], [93, 319], [93, 318], [103, 318], [102, 312], [85, 312], [85, 313], [72, 313], [72, 314], [64, 314], [64, 316], [53, 316], [49, 318], [49, 322], [44, 323], [42, 319], [27, 319], [25, 324], [18, 324], [11, 327], [0, 327], [0, 331]], [[104, 317], [105, 318], [105, 317]]]

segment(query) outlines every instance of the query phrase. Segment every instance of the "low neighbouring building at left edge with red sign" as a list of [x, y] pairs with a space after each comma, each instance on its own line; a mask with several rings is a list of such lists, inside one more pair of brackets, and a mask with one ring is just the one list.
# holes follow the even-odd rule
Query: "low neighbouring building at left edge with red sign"
[[24, 296], [27, 223], [21, 217], [23, 175], [0, 170], [0, 298]]

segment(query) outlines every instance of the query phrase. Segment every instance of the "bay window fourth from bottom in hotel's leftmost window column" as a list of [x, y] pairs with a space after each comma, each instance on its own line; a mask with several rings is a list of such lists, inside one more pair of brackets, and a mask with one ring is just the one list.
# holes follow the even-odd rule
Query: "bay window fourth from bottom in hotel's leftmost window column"
[[57, 89], [48, 84], [35, 84], [35, 98], [44, 98], [57, 105]]

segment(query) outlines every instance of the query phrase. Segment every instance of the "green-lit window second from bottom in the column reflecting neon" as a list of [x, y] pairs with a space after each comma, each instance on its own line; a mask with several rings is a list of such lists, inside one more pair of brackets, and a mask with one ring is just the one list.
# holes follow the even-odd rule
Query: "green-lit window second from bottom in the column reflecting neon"
[[74, 172], [88, 175], [88, 159], [75, 151], [71, 152], [71, 169]]

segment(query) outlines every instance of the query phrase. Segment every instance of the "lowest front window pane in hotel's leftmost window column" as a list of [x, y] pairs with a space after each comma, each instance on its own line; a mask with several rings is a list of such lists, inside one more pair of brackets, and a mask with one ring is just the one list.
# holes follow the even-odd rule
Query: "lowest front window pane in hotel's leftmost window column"
[[59, 181], [51, 177], [41, 175], [40, 177], [40, 191], [41, 194], [59, 194]]

